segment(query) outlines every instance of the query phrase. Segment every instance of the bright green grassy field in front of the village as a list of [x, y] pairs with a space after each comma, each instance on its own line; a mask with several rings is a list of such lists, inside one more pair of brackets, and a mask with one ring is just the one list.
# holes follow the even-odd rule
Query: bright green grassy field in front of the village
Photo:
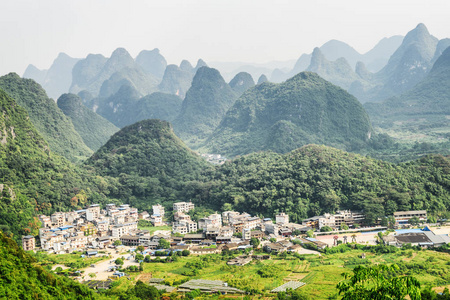
[[[366, 258], [362, 259], [365, 253]], [[450, 284], [450, 255], [435, 251], [398, 250], [395, 253], [377, 254], [363, 250], [345, 253], [287, 258], [273, 256], [266, 261], [253, 261], [245, 266], [228, 266], [228, 257], [222, 255], [180, 257], [172, 263], [146, 263], [141, 274], [132, 279], [164, 278], [168, 285], [179, 285], [190, 279], [223, 280], [230, 286], [254, 291], [252, 299], [271, 299], [270, 290], [290, 280], [307, 283], [301, 288], [308, 299], [330, 299], [337, 296], [336, 284], [343, 273], [351, 273], [359, 264], [396, 263], [402, 273], [415, 276], [422, 286]], [[192, 266], [195, 267], [192, 267]], [[192, 270], [196, 271], [193, 272]], [[142, 274], [145, 274], [143, 277]], [[130, 281], [115, 289], [124, 290]]]

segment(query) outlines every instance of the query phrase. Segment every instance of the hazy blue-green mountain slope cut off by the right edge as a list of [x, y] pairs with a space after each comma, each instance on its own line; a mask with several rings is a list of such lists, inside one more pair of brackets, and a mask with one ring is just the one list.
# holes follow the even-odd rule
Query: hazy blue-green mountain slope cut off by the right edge
[[[450, 49], [444, 51], [430, 73], [410, 91], [382, 103], [364, 106], [375, 129], [387, 133], [409, 151], [449, 154]], [[403, 146], [403, 147], [402, 147]], [[404, 153], [405, 149], [398, 149]], [[395, 149], [392, 149], [396, 153]]]

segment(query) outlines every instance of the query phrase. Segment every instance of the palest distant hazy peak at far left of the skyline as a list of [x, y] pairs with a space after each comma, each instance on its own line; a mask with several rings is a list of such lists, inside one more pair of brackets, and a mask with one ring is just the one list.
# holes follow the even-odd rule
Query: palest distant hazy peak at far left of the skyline
[[29, 65], [23, 77], [39, 83], [47, 95], [56, 100], [61, 94], [69, 91], [72, 84], [72, 69], [79, 60], [65, 53], [59, 53], [50, 69], [41, 71], [35, 66]]

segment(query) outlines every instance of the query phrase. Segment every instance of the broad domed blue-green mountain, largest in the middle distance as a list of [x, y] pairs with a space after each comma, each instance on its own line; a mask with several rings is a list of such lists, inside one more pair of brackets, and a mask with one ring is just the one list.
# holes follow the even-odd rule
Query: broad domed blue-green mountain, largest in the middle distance
[[206, 142], [212, 153], [288, 152], [310, 143], [347, 150], [365, 145], [372, 133], [362, 105], [315, 73], [247, 91]]

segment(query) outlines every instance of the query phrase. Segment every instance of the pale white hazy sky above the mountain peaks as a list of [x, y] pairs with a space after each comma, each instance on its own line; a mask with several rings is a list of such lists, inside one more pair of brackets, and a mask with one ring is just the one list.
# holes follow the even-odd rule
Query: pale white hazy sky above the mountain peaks
[[0, 75], [117, 47], [159, 48], [177, 64], [297, 59], [330, 39], [363, 53], [418, 23], [450, 37], [450, 1], [0, 0]]

